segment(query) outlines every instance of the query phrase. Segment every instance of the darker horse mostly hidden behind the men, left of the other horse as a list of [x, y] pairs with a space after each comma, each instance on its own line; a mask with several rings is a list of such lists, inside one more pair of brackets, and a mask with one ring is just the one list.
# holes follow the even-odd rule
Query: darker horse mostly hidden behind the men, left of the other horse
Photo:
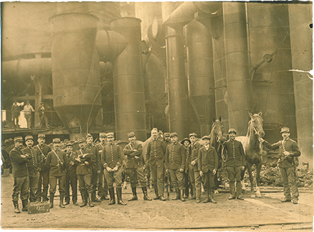
[[[223, 123], [221, 116], [219, 119], [213, 118], [213, 125], [211, 126], [211, 133], [209, 137], [211, 138], [210, 145], [216, 149], [217, 154], [221, 154], [221, 143], [223, 142]], [[221, 155], [218, 155], [218, 169], [222, 166]], [[218, 171], [215, 174], [215, 193], [218, 193]]]

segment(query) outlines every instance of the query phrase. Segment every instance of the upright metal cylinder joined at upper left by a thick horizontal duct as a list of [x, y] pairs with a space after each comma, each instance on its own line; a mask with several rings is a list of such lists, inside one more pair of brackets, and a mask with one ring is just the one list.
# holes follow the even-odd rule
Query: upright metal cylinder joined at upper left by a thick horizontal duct
[[128, 40], [128, 47], [113, 62], [116, 138], [128, 141], [127, 133], [146, 139], [144, 79], [142, 75], [141, 20], [122, 17], [110, 22], [112, 31]]

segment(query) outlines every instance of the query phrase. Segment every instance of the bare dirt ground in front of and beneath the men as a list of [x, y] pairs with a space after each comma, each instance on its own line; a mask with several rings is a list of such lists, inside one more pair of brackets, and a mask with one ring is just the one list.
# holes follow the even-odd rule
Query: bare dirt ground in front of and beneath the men
[[[13, 178], [2, 178], [2, 229], [136, 229], [136, 230], [209, 230], [209, 231], [313, 231], [313, 191], [299, 189], [299, 204], [281, 203], [281, 189], [261, 188], [262, 198], [244, 201], [228, 200], [227, 191], [215, 194], [218, 203], [195, 201], [143, 201], [142, 190], [137, 190], [138, 201], [128, 202], [130, 185], [123, 190], [127, 206], [108, 206], [108, 201], [96, 203], [94, 208], [74, 206], [59, 208], [59, 197], [54, 198], [50, 212], [29, 215], [14, 212], [11, 194]], [[154, 190], [149, 192], [154, 197]], [[167, 196], [167, 193], [165, 193]], [[174, 192], [170, 193], [170, 199]], [[202, 195], [202, 199], [205, 196]], [[79, 196], [79, 203], [82, 199]], [[20, 202], [20, 205], [22, 203]]]

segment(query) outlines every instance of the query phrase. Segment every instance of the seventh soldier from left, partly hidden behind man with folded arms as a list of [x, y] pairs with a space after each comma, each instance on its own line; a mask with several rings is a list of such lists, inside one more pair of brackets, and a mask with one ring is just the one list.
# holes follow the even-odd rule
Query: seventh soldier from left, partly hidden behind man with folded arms
[[93, 136], [91, 134], [87, 134], [86, 136], [86, 148], [91, 150], [91, 185], [93, 185], [93, 193], [91, 194], [91, 201], [92, 202], [100, 202], [101, 200], [98, 199], [96, 196], [97, 190], [97, 178], [98, 174], [100, 173], [100, 162], [98, 157], [98, 150], [96, 150], [93, 144]]

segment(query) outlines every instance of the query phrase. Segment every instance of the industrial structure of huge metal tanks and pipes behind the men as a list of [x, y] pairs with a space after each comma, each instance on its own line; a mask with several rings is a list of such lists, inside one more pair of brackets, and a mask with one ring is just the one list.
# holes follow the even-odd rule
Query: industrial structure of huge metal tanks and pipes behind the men
[[[265, 139], [290, 127], [313, 167], [311, 3], [2, 3], [2, 110], [46, 102], [70, 139], [112, 128], [144, 141], [152, 127], [246, 135], [262, 111]], [[35, 114], [35, 126], [38, 116]], [[106, 127], [111, 125], [112, 127]], [[105, 126], [105, 127], [104, 127]], [[36, 131], [20, 131], [20, 133]], [[106, 131], [107, 132], [107, 131]], [[3, 137], [12, 131], [3, 127]], [[17, 133], [14, 131], [14, 133]]]

